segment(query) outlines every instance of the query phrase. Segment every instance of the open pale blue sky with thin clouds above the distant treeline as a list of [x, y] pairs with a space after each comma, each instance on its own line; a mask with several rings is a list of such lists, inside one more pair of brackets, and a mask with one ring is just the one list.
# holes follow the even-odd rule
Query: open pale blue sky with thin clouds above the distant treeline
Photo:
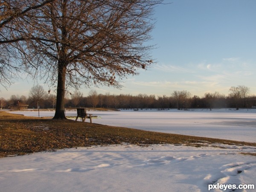
[[[91, 87], [98, 93], [171, 96], [174, 90], [192, 95], [244, 85], [256, 95], [256, 0], [166, 0], [155, 9], [151, 33], [157, 60], [139, 76], [124, 79], [122, 90]], [[0, 87], [0, 97], [28, 96], [32, 81]], [[44, 85], [45, 90], [49, 87]], [[52, 89], [52, 88], [51, 88]], [[90, 89], [81, 87], [87, 96]]]

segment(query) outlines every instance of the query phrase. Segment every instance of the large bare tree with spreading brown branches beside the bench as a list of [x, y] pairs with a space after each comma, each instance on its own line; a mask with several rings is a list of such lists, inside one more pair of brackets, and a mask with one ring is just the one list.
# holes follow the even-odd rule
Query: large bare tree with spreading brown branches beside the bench
[[[16, 2], [16, 1], [15, 1]], [[54, 119], [64, 119], [67, 87], [119, 82], [154, 63], [150, 56], [154, 7], [163, 0], [58, 0], [33, 10], [9, 46], [31, 73], [57, 81]], [[29, 15], [31, 16], [31, 15]], [[11, 23], [8, 23], [11, 25]], [[8, 28], [11, 30], [12, 28]]]

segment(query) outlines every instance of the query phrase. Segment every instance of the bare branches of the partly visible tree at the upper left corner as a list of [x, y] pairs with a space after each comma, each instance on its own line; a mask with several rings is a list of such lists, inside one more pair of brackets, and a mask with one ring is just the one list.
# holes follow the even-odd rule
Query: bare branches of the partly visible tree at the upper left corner
[[[27, 70], [17, 42], [29, 39], [33, 30], [27, 30], [27, 18], [33, 12], [54, 0], [0, 0], [0, 84], [6, 87], [12, 79]], [[25, 29], [25, 30], [24, 30]], [[31, 29], [31, 28], [30, 28]]]

